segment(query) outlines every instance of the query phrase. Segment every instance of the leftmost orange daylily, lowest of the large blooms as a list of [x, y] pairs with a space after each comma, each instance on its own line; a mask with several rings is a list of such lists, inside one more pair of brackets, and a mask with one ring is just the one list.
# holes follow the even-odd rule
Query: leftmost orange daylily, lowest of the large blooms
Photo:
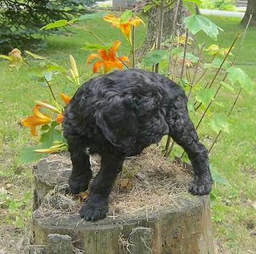
[[33, 107], [33, 116], [28, 116], [21, 120], [24, 127], [30, 128], [32, 136], [37, 136], [37, 130], [35, 129], [37, 126], [49, 124], [49, 122], [51, 122], [51, 117], [49, 115], [39, 111], [39, 108], [41, 107], [41, 105], [35, 104]]

